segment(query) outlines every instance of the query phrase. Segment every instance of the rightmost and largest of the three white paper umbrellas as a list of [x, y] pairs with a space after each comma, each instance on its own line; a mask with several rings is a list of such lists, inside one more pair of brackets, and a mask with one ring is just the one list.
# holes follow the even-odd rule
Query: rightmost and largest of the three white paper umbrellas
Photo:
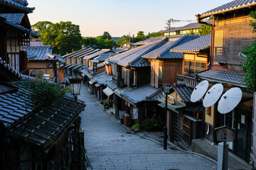
[[242, 91], [238, 87], [229, 89], [228, 91], [221, 96], [220, 101], [218, 102], [218, 112], [225, 114], [232, 111], [238, 103], [241, 101]]

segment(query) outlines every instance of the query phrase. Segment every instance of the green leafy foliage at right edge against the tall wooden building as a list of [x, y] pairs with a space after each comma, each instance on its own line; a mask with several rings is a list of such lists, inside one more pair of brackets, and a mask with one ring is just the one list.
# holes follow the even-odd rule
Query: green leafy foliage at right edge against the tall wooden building
[[[253, 28], [253, 32], [256, 32], [256, 11], [252, 11], [250, 16], [254, 19], [250, 21], [250, 26]], [[252, 42], [250, 45], [246, 46], [242, 53], [245, 54], [246, 61], [242, 65], [242, 70], [245, 72], [243, 81], [245, 82], [247, 89], [249, 91], [256, 91], [256, 41]]]

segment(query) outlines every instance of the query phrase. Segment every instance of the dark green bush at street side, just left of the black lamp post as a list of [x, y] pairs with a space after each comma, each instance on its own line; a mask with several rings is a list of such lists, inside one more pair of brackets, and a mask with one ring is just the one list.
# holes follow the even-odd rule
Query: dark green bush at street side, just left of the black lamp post
[[161, 130], [164, 126], [164, 121], [160, 116], [154, 114], [151, 118], [146, 118], [142, 123], [142, 127], [145, 130], [154, 131]]

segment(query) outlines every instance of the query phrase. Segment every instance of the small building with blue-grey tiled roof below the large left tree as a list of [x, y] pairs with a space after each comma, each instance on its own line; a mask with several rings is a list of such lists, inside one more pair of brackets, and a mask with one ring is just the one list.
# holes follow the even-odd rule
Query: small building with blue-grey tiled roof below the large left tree
[[24, 46], [23, 50], [27, 52], [28, 75], [36, 77], [48, 74], [50, 81], [57, 78], [58, 62], [65, 63], [65, 58], [53, 54], [53, 49], [50, 45]]

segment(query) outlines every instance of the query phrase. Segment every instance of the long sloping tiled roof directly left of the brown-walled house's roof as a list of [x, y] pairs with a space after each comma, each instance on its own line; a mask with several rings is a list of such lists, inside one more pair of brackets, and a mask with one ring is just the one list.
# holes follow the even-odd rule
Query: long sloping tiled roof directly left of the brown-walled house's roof
[[165, 40], [159, 40], [156, 42], [151, 42], [147, 45], [142, 45], [140, 47], [136, 47], [132, 50], [129, 50], [127, 52], [124, 52], [120, 55], [116, 55], [114, 57], [110, 58], [110, 62], [122, 65], [124, 67], [132, 66], [134, 63], [137, 62], [143, 55], [145, 55], [147, 52], [151, 52], [151, 50], [156, 49], [160, 45], [164, 43]]

